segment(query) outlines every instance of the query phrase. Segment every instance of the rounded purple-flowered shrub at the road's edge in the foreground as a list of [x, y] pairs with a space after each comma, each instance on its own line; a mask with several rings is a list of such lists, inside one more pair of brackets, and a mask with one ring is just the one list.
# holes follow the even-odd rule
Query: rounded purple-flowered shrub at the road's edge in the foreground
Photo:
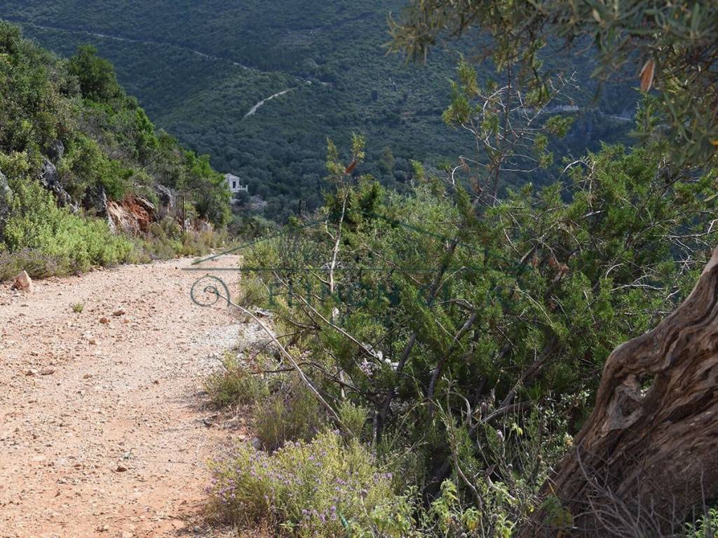
[[242, 526], [265, 523], [300, 537], [371, 536], [369, 529], [399, 537], [413, 527], [411, 503], [393, 492], [391, 474], [336, 433], [271, 455], [244, 443], [212, 467], [215, 510]]

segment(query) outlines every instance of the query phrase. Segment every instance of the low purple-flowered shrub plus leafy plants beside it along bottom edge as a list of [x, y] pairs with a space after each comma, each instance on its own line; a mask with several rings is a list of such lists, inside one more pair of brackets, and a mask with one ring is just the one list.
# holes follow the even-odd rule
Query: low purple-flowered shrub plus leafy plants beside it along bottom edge
[[490, 478], [474, 485], [478, 505], [462, 500], [454, 478], [426, 506], [419, 489], [395, 476], [391, 463], [380, 464], [370, 445], [329, 429], [272, 453], [241, 443], [212, 471], [215, 516], [278, 535], [509, 538], [531, 511], [526, 484]]

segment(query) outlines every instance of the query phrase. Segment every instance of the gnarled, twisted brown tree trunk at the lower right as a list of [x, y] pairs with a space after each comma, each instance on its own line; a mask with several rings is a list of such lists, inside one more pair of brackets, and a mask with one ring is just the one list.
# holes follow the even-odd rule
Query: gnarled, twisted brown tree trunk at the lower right
[[718, 248], [671, 316], [610, 354], [549, 502], [518, 536], [671, 532], [718, 494], [717, 377]]

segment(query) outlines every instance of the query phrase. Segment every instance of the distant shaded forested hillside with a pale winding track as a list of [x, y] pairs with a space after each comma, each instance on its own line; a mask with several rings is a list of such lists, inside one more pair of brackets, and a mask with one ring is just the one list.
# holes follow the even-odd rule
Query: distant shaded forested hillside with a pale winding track
[[[400, 191], [409, 186], [411, 160], [442, 166], [459, 155], [474, 157], [472, 142], [441, 116], [460, 53], [479, 52], [468, 44], [438, 47], [424, 66], [387, 55], [386, 18], [401, 6], [98, 1], [86, 9], [69, 0], [9, 0], [0, 16], [62, 55], [93, 44], [154, 123], [209, 154], [215, 169], [241, 176], [250, 194], [269, 202], [266, 214], [283, 220], [299, 199], [309, 210], [321, 205], [326, 136], [347, 141], [352, 132], [365, 134], [370, 147], [360, 171]], [[614, 81], [596, 97], [589, 77], [595, 65], [583, 45], [548, 59], [551, 69], [575, 69], [580, 88], [563, 103], [576, 107], [579, 121], [556, 146], [559, 154], [625, 138], [635, 82]], [[481, 77], [492, 71], [485, 67]], [[506, 184], [521, 181], [505, 177]]]

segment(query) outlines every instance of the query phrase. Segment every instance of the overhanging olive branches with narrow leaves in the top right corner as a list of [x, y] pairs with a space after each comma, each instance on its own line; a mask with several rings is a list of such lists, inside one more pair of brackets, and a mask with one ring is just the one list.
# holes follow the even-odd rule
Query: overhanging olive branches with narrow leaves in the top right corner
[[[476, 32], [476, 29], [479, 32]], [[660, 95], [661, 123], [653, 131], [671, 144], [676, 161], [714, 158], [718, 146], [718, 6], [689, 0], [656, 4], [632, 0], [462, 2], [412, 1], [392, 22], [393, 47], [425, 57], [440, 39], [465, 35], [499, 70], [516, 70], [518, 82], [544, 86], [541, 66], [556, 54], [551, 39], [592, 43], [591, 73], [610, 80], [640, 72], [643, 91]], [[461, 45], [465, 47], [465, 43]], [[582, 48], [582, 47], [580, 47]], [[638, 85], [638, 78], [636, 85]]]

